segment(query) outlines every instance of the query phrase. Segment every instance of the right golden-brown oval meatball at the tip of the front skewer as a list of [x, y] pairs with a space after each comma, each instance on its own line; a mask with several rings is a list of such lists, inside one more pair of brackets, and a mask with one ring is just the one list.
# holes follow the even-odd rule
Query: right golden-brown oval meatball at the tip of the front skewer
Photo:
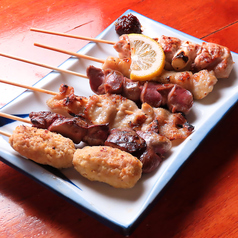
[[142, 174], [142, 163], [131, 154], [109, 146], [86, 146], [77, 149], [74, 168], [91, 181], [115, 188], [132, 188]]

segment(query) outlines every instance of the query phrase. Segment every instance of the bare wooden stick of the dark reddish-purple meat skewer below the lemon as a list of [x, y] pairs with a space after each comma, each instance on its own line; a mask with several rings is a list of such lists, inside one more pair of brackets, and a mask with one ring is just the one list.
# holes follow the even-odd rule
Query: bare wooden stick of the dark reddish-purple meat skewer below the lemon
[[61, 72], [61, 73], [67, 73], [67, 74], [72, 74], [72, 75], [75, 75], [75, 76], [78, 76], [78, 77], [88, 78], [88, 77], [87, 77], [86, 75], [84, 75], [84, 74], [80, 74], [80, 73], [77, 73], [77, 72], [74, 72], [74, 71], [70, 71], [70, 70], [66, 70], [66, 69], [56, 68], [56, 67], [54, 67], [54, 66], [50, 66], [50, 65], [46, 65], [46, 64], [41, 64], [41, 63], [38, 63], [38, 62], [34, 62], [34, 61], [31, 61], [31, 60], [22, 59], [22, 58], [15, 57], [15, 56], [3, 54], [3, 53], [0, 53], [0, 56], [6, 57], [6, 58], [10, 58], [10, 59], [14, 59], [14, 60], [18, 60], [18, 61], [22, 61], [22, 62], [24, 62], [24, 63], [29, 63], [29, 64], [41, 66], [41, 67], [48, 68], [48, 69], [53, 69], [53, 70], [59, 71], [59, 72]]

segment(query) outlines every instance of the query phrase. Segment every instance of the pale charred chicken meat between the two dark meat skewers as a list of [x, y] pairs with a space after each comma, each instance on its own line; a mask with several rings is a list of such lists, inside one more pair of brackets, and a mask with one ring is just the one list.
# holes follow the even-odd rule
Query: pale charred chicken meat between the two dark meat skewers
[[83, 116], [90, 124], [109, 123], [109, 128], [157, 130], [170, 140], [186, 138], [193, 131], [180, 113], [152, 108], [147, 103], [143, 103], [142, 109], [139, 109], [135, 102], [119, 95], [76, 96], [74, 88], [64, 84], [60, 86], [58, 94], [47, 100], [47, 105], [67, 116]]

